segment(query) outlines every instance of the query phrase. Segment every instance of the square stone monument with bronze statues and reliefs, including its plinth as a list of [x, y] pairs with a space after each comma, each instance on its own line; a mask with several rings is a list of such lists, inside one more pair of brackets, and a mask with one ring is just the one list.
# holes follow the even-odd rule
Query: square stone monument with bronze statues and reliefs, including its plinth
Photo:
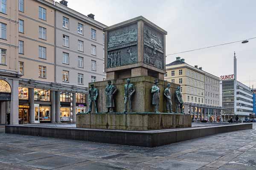
[[167, 32], [141, 16], [103, 31], [107, 80], [89, 83], [92, 87], [87, 100], [89, 112], [77, 115], [76, 127], [121, 130], [191, 127], [190, 115], [170, 113], [176, 111], [175, 101], [181, 101], [175, 100], [179, 85], [163, 80]]

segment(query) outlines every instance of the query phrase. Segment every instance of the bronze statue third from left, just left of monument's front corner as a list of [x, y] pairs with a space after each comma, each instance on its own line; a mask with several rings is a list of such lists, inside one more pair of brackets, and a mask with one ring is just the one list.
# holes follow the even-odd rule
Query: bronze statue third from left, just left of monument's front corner
[[125, 100], [125, 108], [124, 113], [127, 112], [127, 103], [129, 101], [130, 106], [130, 112], [132, 112], [132, 95], [135, 93], [135, 86], [130, 83], [130, 79], [126, 80], [127, 83], [125, 84], [125, 94], [124, 94], [124, 100]]

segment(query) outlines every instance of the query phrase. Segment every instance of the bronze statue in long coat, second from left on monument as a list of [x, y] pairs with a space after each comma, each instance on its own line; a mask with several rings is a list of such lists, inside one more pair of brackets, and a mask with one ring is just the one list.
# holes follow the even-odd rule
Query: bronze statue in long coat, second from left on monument
[[113, 109], [115, 108], [115, 103], [114, 103], [114, 94], [116, 93], [117, 88], [114, 85], [111, 85], [111, 81], [108, 81], [108, 85], [105, 88], [105, 94], [107, 96], [107, 108], [108, 111], [105, 113], [108, 113], [109, 110], [111, 109], [111, 112], [114, 112]]

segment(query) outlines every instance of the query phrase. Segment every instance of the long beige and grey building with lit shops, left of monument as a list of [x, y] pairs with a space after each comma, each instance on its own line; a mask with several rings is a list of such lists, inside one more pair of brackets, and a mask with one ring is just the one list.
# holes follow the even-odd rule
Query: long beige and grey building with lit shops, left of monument
[[88, 82], [105, 78], [105, 25], [68, 8], [65, 0], [3, 1], [7, 42], [0, 47], [7, 55], [0, 81], [11, 81], [9, 72], [16, 84], [8, 82], [11, 97], [1, 102], [1, 123], [9, 112], [11, 124], [76, 121], [76, 113], [86, 111]]

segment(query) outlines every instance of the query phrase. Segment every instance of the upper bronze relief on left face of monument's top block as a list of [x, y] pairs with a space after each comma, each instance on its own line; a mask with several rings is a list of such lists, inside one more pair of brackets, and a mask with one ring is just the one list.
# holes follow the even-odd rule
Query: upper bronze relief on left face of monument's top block
[[137, 23], [108, 32], [108, 48], [137, 41]]

